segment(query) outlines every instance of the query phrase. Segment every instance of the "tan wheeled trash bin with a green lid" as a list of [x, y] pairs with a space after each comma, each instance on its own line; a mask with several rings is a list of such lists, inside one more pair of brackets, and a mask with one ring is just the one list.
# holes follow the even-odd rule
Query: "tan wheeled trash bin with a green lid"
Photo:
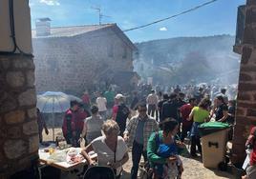
[[202, 136], [203, 167], [218, 169], [224, 162], [229, 125], [221, 122], [208, 122], [199, 126]]

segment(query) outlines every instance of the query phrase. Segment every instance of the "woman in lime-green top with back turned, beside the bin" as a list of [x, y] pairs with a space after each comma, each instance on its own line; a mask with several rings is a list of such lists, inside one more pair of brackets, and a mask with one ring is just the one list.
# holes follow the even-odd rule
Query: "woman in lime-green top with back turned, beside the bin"
[[196, 157], [196, 146], [200, 153], [202, 153], [202, 147], [200, 144], [200, 134], [199, 134], [199, 125], [204, 122], [209, 121], [209, 107], [211, 106], [211, 101], [207, 98], [203, 98], [203, 100], [199, 103], [198, 107], [194, 107], [189, 114], [189, 120], [194, 120], [192, 129], [191, 129], [191, 148], [190, 154], [193, 157]]

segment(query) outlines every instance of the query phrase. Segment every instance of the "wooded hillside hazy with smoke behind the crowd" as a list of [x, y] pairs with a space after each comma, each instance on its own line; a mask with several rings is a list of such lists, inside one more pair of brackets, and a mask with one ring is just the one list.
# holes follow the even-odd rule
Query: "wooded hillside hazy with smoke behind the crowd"
[[179, 37], [137, 43], [135, 70], [155, 84], [236, 83], [240, 55], [232, 51], [235, 37]]

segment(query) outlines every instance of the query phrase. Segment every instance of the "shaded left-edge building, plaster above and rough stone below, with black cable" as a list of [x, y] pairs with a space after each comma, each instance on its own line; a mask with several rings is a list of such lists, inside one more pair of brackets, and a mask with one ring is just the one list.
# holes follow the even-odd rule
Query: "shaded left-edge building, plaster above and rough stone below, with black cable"
[[34, 178], [39, 139], [29, 1], [0, 1], [0, 11], [0, 178]]

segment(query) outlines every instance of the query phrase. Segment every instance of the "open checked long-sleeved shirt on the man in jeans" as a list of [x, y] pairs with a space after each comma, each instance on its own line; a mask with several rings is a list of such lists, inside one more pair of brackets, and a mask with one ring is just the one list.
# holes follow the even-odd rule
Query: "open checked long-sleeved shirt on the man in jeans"
[[130, 146], [130, 147], [133, 145], [134, 140], [136, 138], [136, 132], [137, 132], [139, 120], [145, 120], [145, 124], [143, 127], [143, 150], [146, 150], [147, 142], [148, 142], [148, 139], [149, 139], [151, 133], [155, 132], [155, 131], [159, 131], [159, 125], [158, 125], [157, 121], [155, 119], [151, 118], [150, 116], [146, 116], [146, 118], [144, 118], [144, 119], [141, 119], [139, 117], [139, 115], [133, 117], [129, 121], [129, 123], [124, 131], [124, 133], [129, 135], [128, 146]]

